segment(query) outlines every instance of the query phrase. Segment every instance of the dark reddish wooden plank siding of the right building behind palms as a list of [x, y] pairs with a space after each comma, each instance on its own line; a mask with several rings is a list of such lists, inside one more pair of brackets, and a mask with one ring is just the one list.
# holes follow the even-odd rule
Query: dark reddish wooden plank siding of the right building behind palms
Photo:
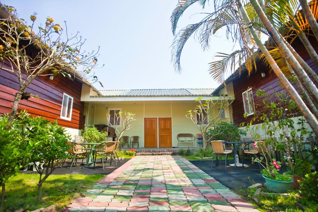
[[[318, 50], [318, 43], [317, 40], [311, 36], [309, 38], [311, 44], [314, 46], [315, 50]], [[292, 46], [297, 51], [297, 53], [305, 60], [305, 62], [315, 71], [315, 73], [318, 73], [318, 68], [315, 66], [315, 64], [312, 62], [311, 58], [308, 55], [308, 52], [306, 51], [305, 47], [301, 43], [299, 39], [296, 39]], [[262, 78], [261, 72], [265, 71], [266, 77]], [[233, 89], [234, 89], [234, 95], [235, 100], [232, 103], [233, 108], [233, 122], [236, 125], [241, 124], [242, 122], [249, 122], [252, 115], [248, 116], [247, 118], [244, 118], [244, 104], [243, 104], [243, 97], [242, 93], [248, 89], [248, 87], [252, 87], [253, 91], [253, 98], [254, 98], [254, 104], [262, 104], [262, 97], [256, 97], [256, 91], [257, 90], [264, 90], [267, 93], [273, 93], [273, 91], [276, 92], [285, 92], [287, 91], [280, 86], [280, 82], [276, 76], [276, 74], [273, 71], [270, 71], [269, 67], [266, 67], [265, 64], [263, 64], [263, 61], [257, 62], [257, 71], [251, 73], [250, 76], [248, 76], [247, 72], [243, 72], [241, 76], [237, 79], [233, 80]], [[297, 92], [299, 92], [297, 86], [295, 86]], [[259, 122], [254, 122], [254, 124]]]

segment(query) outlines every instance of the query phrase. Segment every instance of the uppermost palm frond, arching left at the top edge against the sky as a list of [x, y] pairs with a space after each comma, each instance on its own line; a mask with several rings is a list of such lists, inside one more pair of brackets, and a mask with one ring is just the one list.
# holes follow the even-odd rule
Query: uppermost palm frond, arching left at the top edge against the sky
[[172, 11], [172, 15], [170, 17], [170, 21], [171, 21], [171, 30], [173, 35], [175, 35], [176, 33], [176, 27], [177, 27], [177, 23], [179, 18], [182, 16], [183, 12], [190, 7], [192, 4], [199, 2], [200, 5], [202, 5], [203, 9], [205, 6], [205, 3], [208, 0], [179, 0], [176, 8]]

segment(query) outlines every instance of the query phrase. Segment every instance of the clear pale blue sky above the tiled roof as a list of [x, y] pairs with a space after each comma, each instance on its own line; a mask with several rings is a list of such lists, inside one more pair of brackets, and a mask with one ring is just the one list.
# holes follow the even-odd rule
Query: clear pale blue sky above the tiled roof
[[[233, 43], [219, 34], [212, 39], [211, 48], [203, 51], [191, 38], [183, 49], [183, 72], [176, 74], [171, 63], [170, 16], [178, 0], [135, 1], [73, 1], [73, 0], [1, 0], [14, 6], [20, 18], [28, 20], [38, 13], [36, 24], [52, 17], [55, 23], [64, 24], [68, 31], [80, 32], [86, 38], [85, 49], [91, 51], [100, 46], [98, 61], [105, 64], [96, 70], [103, 83], [98, 89], [150, 89], [150, 88], [216, 88], [211, 79], [208, 63], [216, 52], [231, 53]], [[196, 4], [182, 16], [179, 29], [197, 23], [203, 17]], [[209, 7], [204, 11], [208, 12]], [[194, 14], [194, 15], [193, 15]]]

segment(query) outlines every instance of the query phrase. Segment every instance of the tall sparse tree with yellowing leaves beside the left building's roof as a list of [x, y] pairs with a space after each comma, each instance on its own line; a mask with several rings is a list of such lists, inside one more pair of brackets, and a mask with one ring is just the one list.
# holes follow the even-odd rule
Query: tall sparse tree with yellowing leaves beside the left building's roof
[[32, 96], [24, 91], [38, 76], [62, 74], [79, 77], [87, 83], [98, 81], [93, 68], [97, 66], [99, 47], [97, 51], [83, 50], [86, 40], [79, 32], [70, 34], [66, 22], [62, 26], [47, 17], [37, 27], [36, 14], [30, 16], [31, 24], [27, 24], [18, 18], [13, 7], [1, 5], [0, 9], [7, 12], [0, 19], [0, 67], [14, 74], [19, 84], [7, 127], [16, 115], [20, 100]]

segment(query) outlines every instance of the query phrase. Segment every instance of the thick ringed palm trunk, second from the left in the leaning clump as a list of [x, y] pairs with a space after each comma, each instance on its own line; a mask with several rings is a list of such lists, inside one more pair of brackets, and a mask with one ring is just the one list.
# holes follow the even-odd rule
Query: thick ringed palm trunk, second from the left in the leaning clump
[[264, 24], [266, 30], [271, 35], [273, 41], [275, 42], [277, 48], [279, 49], [282, 56], [285, 58], [286, 62], [293, 68], [294, 72], [296, 73], [298, 79], [301, 83], [306, 87], [308, 94], [313, 99], [314, 102], [318, 102], [318, 89], [308, 77], [307, 73], [299, 64], [298, 60], [294, 57], [292, 52], [289, 50], [284, 39], [281, 38], [280, 33], [275, 29], [273, 24], [271, 23], [270, 19], [266, 16], [263, 9], [260, 7], [257, 0], [250, 0], [252, 3], [257, 15], [259, 16], [261, 22]]

